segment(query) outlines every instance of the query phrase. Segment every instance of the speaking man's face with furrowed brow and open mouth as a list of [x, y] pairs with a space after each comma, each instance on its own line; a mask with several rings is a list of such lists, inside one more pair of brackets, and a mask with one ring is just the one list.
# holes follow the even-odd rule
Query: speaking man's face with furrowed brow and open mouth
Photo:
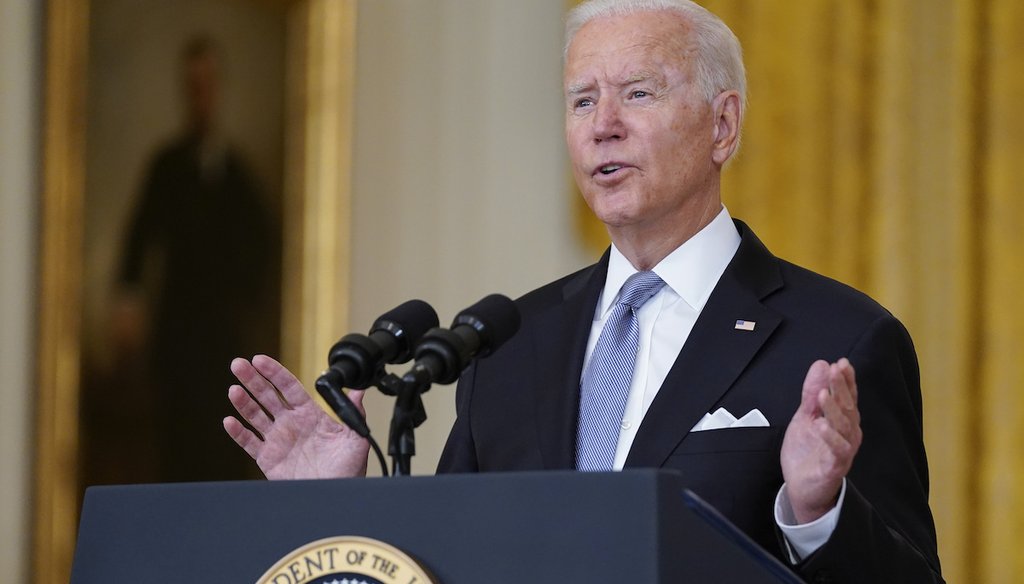
[[688, 29], [667, 11], [596, 18], [569, 46], [572, 171], [612, 237], [623, 228], [671, 230], [694, 213], [718, 211], [715, 117], [680, 34]]

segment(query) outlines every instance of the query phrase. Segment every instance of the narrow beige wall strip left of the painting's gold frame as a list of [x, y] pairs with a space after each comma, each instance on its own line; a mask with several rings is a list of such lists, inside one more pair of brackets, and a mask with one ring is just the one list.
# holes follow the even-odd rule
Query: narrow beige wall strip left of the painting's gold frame
[[39, 4], [0, 0], [0, 574], [27, 578]]

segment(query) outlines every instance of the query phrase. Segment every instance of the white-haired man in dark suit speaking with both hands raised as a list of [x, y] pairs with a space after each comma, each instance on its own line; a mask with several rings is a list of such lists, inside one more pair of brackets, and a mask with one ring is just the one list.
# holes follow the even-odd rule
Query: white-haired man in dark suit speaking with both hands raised
[[[745, 91], [732, 32], [687, 0], [586, 2], [564, 91], [573, 174], [612, 245], [517, 300], [519, 332], [460, 380], [438, 472], [675, 468], [808, 579], [942, 581], [905, 329], [722, 204]], [[268, 477], [365, 472], [366, 443], [280, 364], [231, 370], [262, 440], [224, 427]]]

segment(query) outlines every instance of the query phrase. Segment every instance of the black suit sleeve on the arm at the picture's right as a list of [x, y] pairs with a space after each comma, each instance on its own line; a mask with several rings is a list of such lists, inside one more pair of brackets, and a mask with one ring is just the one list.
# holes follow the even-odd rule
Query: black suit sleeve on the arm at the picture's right
[[928, 507], [921, 377], [910, 336], [886, 315], [849, 356], [864, 437], [836, 531], [798, 569], [810, 582], [943, 582]]

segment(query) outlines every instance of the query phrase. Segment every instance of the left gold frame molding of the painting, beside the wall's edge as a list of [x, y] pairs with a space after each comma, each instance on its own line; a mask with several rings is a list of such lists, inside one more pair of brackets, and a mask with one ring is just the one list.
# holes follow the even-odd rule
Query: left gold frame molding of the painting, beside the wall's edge
[[44, 59], [32, 574], [68, 582], [78, 501], [79, 328], [89, 4], [51, 0]]

